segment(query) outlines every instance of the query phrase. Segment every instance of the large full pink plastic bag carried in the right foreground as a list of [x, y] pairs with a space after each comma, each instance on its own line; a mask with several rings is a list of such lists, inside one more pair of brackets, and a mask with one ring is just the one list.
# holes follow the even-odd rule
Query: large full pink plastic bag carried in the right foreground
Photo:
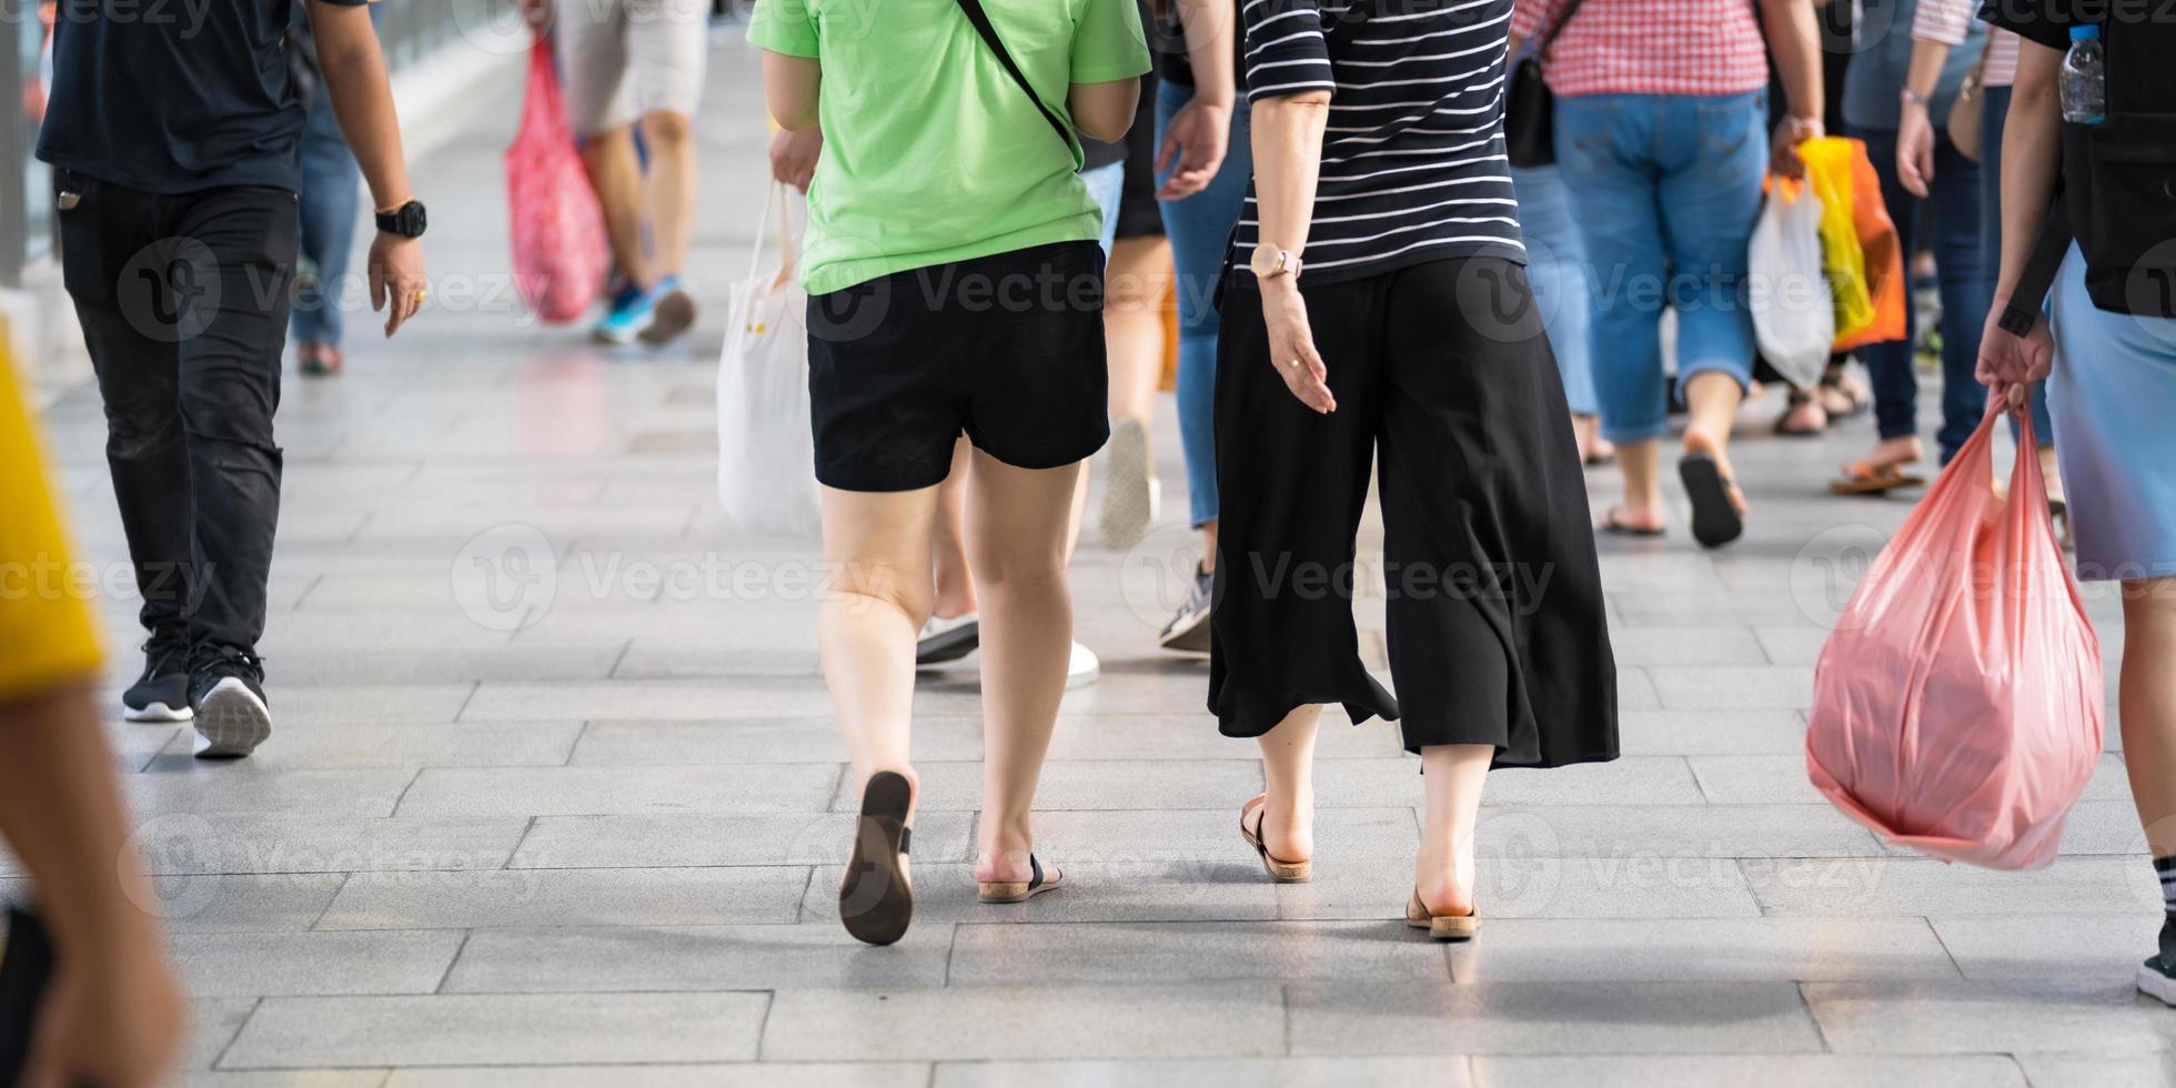
[[1945, 862], [2039, 868], [2100, 759], [2100, 638], [2022, 420], [2008, 500], [1987, 420], [1860, 579], [1813, 675], [1806, 772]]

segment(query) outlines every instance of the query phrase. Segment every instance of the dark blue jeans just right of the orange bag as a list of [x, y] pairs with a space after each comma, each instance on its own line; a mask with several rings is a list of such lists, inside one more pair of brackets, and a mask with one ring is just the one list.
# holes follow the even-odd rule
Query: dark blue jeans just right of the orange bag
[[[1882, 178], [1882, 202], [1897, 224], [1897, 246], [1911, 261], [1919, 252], [1919, 198], [1904, 191], [1897, 178], [1897, 135], [1893, 128], [1852, 133], [1867, 141], [1867, 157]], [[1987, 279], [1980, 263], [1980, 163], [1965, 159], [1950, 135], [1934, 133], [1934, 200], [1937, 285], [1941, 289], [1941, 463], [1971, 437], [1987, 409], [1987, 390], [1971, 372], [1980, 363], [1980, 329], [1987, 324]], [[1874, 422], [1880, 435], [1908, 437], [1919, 433], [1919, 376], [1913, 374], [1913, 346], [1919, 316], [1904, 305], [1904, 339], [1869, 344], [1858, 350], [1874, 379]]]

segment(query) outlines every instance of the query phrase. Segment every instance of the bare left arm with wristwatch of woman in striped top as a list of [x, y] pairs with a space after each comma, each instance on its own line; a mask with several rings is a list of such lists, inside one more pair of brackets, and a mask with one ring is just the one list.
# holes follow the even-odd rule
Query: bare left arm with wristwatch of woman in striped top
[[[1323, 170], [1323, 131], [1330, 91], [1262, 98], [1253, 104], [1253, 189], [1264, 246], [1299, 255], [1308, 248], [1314, 185]], [[1240, 255], [1245, 261], [1247, 255]], [[1293, 276], [1260, 281], [1262, 320], [1269, 324], [1271, 366], [1301, 403], [1321, 413], [1338, 409], [1330, 368], [1314, 350], [1308, 302]]]

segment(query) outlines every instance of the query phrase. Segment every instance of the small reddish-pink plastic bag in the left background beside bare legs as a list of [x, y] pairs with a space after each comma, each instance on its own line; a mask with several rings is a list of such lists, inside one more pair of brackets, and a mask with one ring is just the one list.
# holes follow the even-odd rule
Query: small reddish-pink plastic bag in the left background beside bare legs
[[520, 135], [507, 148], [507, 207], [522, 302], [553, 324], [581, 318], [605, 287], [611, 255], [605, 213], [566, 126], [546, 37], [529, 52], [529, 102]]

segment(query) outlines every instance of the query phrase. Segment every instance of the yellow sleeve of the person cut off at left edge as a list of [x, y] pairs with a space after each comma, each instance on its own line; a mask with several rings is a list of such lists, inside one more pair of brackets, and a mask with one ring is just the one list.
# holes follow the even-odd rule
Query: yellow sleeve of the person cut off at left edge
[[98, 672], [89, 585], [72, 561], [0, 326], [0, 703]]

